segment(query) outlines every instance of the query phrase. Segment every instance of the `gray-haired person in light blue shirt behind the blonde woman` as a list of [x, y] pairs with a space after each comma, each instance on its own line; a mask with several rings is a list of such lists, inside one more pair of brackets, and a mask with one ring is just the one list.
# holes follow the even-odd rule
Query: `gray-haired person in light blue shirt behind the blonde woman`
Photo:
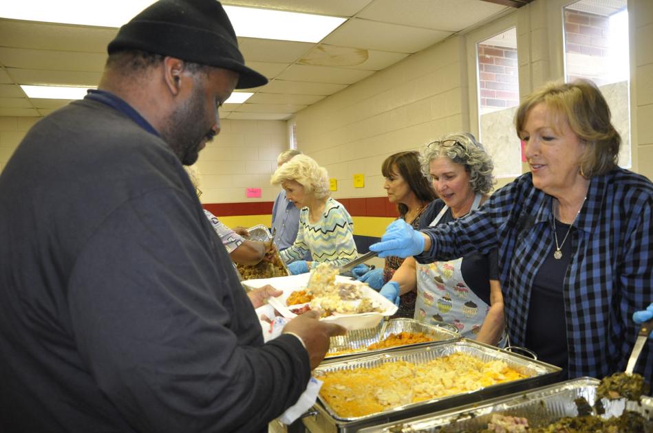
[[[277, 168], [297, 155], [301, 155], [297, 149], [287, 149], [279, 153]], [[299, 209], [288, 200], [286, 191], [282, 189], [275, 199], [275, 204], [272, 205], [272, 231], [275, 232], [275, 245], [279, 251], [295, 243], [297, 230], [299, 230]], [[310, 260], [310, 256], [306, 260]]]

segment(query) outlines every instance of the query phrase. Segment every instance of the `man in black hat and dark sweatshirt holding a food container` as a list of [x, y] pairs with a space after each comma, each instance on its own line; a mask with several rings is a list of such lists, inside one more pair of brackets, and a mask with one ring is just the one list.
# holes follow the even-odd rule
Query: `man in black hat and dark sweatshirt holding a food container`
[[108, 50], [0, 175], [0, 431], [264, 430], [343, 329], [264, 344], [182, 164], [267, 80], [215, 0], [160, 0]]

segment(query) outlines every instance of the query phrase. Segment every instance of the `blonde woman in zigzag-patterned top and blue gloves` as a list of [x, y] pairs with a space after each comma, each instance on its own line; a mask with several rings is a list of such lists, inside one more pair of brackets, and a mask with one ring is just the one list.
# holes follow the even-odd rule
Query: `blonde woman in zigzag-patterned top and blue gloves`
[[293, 274], [308, 272], [312, 262], [341, 266], [356, 258], [354, 222], [341, 204], [329, 197], [327, 170], [311, 157], [297, 155], [275, 171], [270, 181], [281, 185], [288, 200], [300, 209], [299, 230], [292, 246], [280, 252]]

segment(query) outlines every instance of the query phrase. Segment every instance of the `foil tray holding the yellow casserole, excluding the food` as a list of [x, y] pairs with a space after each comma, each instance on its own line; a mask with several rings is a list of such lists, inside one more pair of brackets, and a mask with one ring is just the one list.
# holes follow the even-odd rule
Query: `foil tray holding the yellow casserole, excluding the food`
[[[346, 359], [340, 362], [321, 364], [316, 368], [315, 373], [331, 372], [336, 370], [353, 370], [354, 368], [369, 368], [381, 365], [385, 362], [406, 361], [415, 364], [424, 364], [436, 359], [452, 355], [453, 353], [465, 353], [482, 359], [484, 362], [502, 360], [511, 368], [527, 375], [525, 379], [509, 381], [504, 384], [497, 384], [480, 388], [479, 390], [464, 392], [456, 395], [411, 403], [399, 406], [384, 412], [365, 415], [364, 417], [343, 418], [339, 417], [329, 404], [319, 396], [319, 403], [314, 406], [317, 414], [313, 417], [303, 419], [304, 424], [310, 431], [333, 431], [353, 432], [369, 425], [379, 425], [389, 421], [407, 419], [422, 414], [445, 410], [462, 406], [476, 401], [484, 401], [489, 398], [510, 394], [511, 392], [524, 391], [537, 386], [550, 384], [557, 378], [561, 369], [557, 366], [546, 364], [535, 359], [530, 359], [516, 353], [462, 339], [457, 342], [444, 344], [431, 344], [416, 348], [397, 348], [397, 350], [385, 353], [378, 353], [365, 357]], [[319, 375], [316, 375], [319, 379]]]

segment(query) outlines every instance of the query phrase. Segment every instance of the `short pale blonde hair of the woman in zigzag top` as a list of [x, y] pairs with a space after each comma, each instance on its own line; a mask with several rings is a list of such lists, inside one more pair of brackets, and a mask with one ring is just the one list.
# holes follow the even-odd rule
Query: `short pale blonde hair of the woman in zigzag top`
[[312, 157], [297, 155], [283, 164], [272, 175], [270, 184], [280, 185], [285, 181], [294, 180], [304, 187], [304, 191], [317, 199], [329, 195], [329, 175], [326, 168], [321, 167]]

